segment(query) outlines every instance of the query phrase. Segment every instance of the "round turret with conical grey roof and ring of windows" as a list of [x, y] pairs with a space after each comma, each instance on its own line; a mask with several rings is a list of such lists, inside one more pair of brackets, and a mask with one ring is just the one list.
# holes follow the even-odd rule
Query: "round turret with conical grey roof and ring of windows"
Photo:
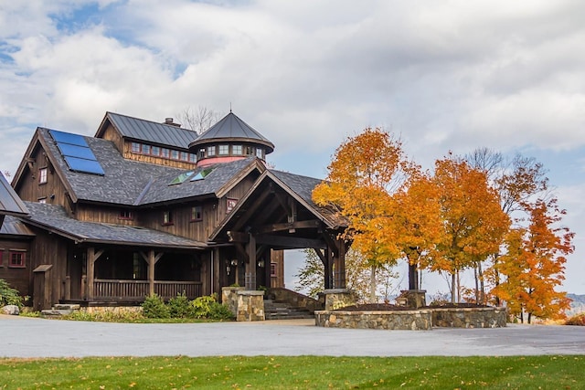
[[189, 151], [197, 154], [197, 166], [229, 163], [254, 155], [261, 160], [274, 151], [274, 144], [248, 123], [229, 111], [216, 124], [189, 143]]

